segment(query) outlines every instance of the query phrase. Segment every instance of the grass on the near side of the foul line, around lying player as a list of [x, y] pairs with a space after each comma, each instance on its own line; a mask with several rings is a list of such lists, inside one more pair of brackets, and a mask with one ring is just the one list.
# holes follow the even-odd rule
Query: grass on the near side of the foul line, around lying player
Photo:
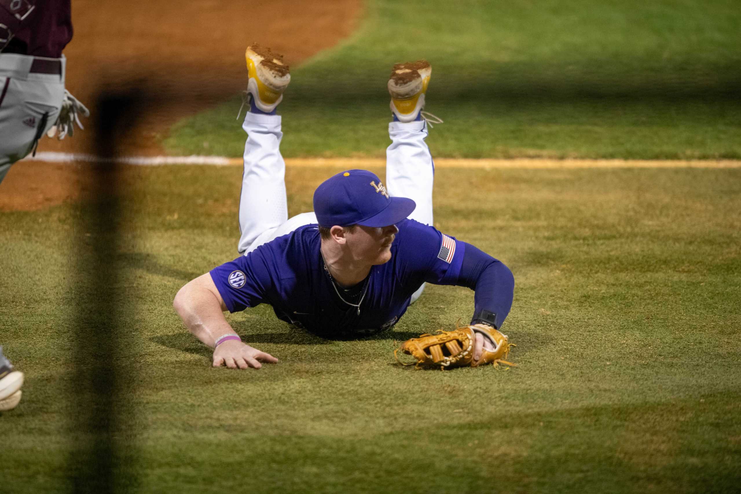
[[[334, 171], [290, 168], [290, 212]], [[117, 178], [121, 492], [737, 490], [741, 169], [437, 170], [436, 224], [516, 276], [504, 330], [519, 367], [449, 372], [393, 361], [396, 341], [471, 315], [470, 290], [435, 286], [365, 340], [291, 330], [266, 306], [230, 316], [281, 363], [210, 368], [171, 302], [236, 256], [241, 173]], [[66, 492], [86, 467], [73, 366], [96, 352], [76, 357], [73, 331], [82, 317], [104, 347], [113, 316], [75, 309], [100, 301], [90, 279], [108, 274], [76, 259], [113, 245], [91, 211], [0, 216], [0, 335], [27, 375], [19, 407], [0, 413], [3, 493]]]

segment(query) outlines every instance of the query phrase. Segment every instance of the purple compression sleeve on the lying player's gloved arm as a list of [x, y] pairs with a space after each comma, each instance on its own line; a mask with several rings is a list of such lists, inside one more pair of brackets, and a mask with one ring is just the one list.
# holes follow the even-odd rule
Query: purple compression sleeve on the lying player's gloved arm
[[502, 261], [463, 243], [465, 253], [456, 284], [476, 292], [471, 324], [483, 322], [499, 329], [512, 308], [514, 276]]

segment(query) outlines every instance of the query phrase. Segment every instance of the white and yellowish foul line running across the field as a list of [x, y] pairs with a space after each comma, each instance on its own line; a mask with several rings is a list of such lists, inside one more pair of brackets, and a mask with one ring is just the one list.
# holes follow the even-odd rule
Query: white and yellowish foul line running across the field
[[[225, 156], [122, 156], [100, 158], [82, 153], [43, 151], [25, 161], [46, 163], [116, 162], [152, 167], [162, 165], [242, 166], [242, 158]], [[382, 158], [286, 158], [290, 167], [384, 167]], [[553, 158], [436, 158], [436, 168], [741, 168], [741, 160], [639, 160], [639, 159], [553, 159]]]

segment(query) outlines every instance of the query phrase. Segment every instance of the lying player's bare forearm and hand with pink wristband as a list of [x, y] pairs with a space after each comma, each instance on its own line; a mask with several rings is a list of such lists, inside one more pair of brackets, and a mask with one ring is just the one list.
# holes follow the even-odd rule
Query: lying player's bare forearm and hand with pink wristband
[[199, 276], [182, 287], [173, 301], [173, 307], [182, 318], [185, 326], [196, 338], [213, 350], [213, 367], [226, 365], [230, 369], [259, 369], [262, 362], [276, 363], [277, 358], [257, 350], [242, 341], [233, 339], [216, 341], [234, 330], [224, 317], [227, 310], [216, 285], [209, 273]]

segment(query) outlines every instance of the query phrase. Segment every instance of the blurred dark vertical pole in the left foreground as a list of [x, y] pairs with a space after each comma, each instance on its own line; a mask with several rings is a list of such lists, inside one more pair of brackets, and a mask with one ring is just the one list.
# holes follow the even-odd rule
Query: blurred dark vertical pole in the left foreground
[[[126, 440], [127, 393], [122, 382], [130, 369], [121, 348], [122, 304], [126, 297], [119, 276], [122, 207], [119, 190], [120, 138], [136, 124], [141, 101], [125, 94], [104, 93], [95, 106], [93, 164], [95, 196], [85, 203], [76, 225], [78, 293], [74, 389], [70, 397], [73, 447], [67, 458], [74, 493], [126, 492], [133, 479], [120, 478]], [[123, 439], [122, 439], [123, 438]], [[124, 468], [122, 468], [124, 467]]]

